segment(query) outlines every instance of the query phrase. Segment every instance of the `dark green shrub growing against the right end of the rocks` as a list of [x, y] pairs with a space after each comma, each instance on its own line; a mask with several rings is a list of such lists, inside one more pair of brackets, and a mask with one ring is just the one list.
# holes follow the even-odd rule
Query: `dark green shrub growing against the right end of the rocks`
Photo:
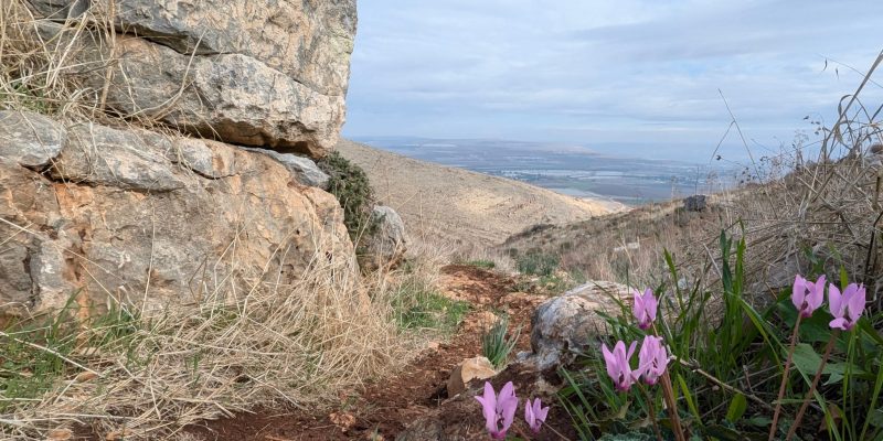
[[328, 191], [343, 208], [343, 224], [357, 249], [363, 238], [376, 233], [380, 220], [373, 216], [374, 192], [368, 174], [361, 166], [333, 151], [321, 159], [319, 169], [329, 175]]

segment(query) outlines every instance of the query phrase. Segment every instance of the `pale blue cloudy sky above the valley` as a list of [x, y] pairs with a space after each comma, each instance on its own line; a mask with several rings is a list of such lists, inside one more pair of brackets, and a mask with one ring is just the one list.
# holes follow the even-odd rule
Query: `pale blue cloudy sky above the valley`
[[[883, 49], [879, 0], [358, 4], [343, 130], [354, 138], [550, 141], [704, 160], [730, 126], [723, 95], [763, 153], [811, 132], [805, 116], [832, 122], [861, 82], [852, 68], [866, 71]], [[870, 86], [869, 105], [881, 90]], [[743, 155], [736, 141], [731, 133], [723, 152]]]

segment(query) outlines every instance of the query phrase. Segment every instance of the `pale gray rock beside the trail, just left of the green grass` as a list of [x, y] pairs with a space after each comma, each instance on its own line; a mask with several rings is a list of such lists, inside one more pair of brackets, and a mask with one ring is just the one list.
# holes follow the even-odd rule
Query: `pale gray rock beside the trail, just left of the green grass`
[[616, 315], [619, 308], [610, 297], [630, 295], [628, 287], [589, 281], [541, 304], [531, 318], [531, 358], [541, 370], [563, 366], [598, 344], [607, 333], [598, 311]]

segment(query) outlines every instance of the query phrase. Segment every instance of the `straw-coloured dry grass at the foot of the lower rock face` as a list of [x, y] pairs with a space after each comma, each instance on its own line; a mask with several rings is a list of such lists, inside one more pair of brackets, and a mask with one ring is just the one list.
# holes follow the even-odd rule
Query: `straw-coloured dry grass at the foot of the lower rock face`
[[[235, 298], [215, 292], [199, 304], [149, 314], [116, 305], [73, 326], [64, 336], [70, 345], [25, 343], [41, 355], [57, 353], [63, 375], [3, 415], [2, 432], [45, 439], [52, 430], [91, 424], [142, 439], [258, 405], [331, 404], [337, 391], [389, 370], [405, 351], [385, 291], [372, 299], [355, 273], [317, 258], [294, 286], [266, 273]], [[10, 332], [6, 343], [28, 342], [34, 332]], [[24, 370], [4, 375], [26, 380]]]

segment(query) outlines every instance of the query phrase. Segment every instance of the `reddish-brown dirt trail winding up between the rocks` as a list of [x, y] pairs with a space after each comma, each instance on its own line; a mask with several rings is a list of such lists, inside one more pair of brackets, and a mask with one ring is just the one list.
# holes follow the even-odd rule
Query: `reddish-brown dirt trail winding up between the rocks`
[[481, 354], [482, 320], [488, 312], [508, 313], [511, 329], [522, 330], [515, 351], [530, 348], [530, 316], [545, 297], [514, 292], [514, 282], [504, 276], [458, 265], [443, 269], [442, 288], [447, 295], [472, 304], [456, 335], [427, 347], [394, 377], [366, 385], [343, 408], [317, 415], [264, 409], [209, 421], [191, 433], [217, 441], [392, 440], [448, 398], [445, 381], [450, 370], [464, 358]]

